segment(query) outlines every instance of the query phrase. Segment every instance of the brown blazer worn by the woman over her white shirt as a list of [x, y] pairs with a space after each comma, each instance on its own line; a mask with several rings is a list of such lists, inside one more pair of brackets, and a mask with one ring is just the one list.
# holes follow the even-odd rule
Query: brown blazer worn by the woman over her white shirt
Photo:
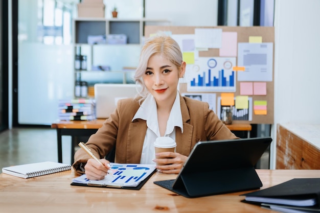
[[[188, 156], [198, 141], [238, 138], [209, 109], [208, 103], [180, 96], [180, 106], [184, 132], [176, 128], [176, 152]], [[139, 107], [136, 99], [118, 102], [117, 109], [86, 143], [94, 155], [104, 158], [116, 146], [115, 162], [140, 163], [147, 124], [141, 119], [132, 121]], [[75, 153], [75, 170], [81, 172], [80, 163], [85, 163], [89, 158], [86, 152], [79, 149]]]

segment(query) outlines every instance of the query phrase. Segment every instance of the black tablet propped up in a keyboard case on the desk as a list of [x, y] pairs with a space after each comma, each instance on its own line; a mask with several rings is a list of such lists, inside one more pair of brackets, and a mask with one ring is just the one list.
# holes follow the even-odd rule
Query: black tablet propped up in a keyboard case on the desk
[[188, 198], [255, 190], [255, 165], [271, 137], [198, 142], [176, 179], [154, 183]]

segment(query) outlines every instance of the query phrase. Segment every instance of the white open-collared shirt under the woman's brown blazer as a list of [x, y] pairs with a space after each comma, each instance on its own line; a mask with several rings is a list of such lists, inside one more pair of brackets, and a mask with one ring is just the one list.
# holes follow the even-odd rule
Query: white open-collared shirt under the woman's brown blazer
[[[147, 132], [145, 140], [143, 142], [142, 154], [140, 163], [142, 164], [155, 164], [152, 159], [155, 158], [153, 143], [157, 137], [160, 137], [157, 108], [154, 97], [149, 94], [146, 100], [141, 104], [138, 111], [136, 111], [133, 119], [142, 119], [147, 121]], [[180, 108], [180, 97], [179, 92], [173, 103], [169, 119], [167, 122], [166, 132], [164, 136], [171, 137], [175, 140], [175, 128], [180, 127], [181, 133], [184, 131], [182, 125], [182, 115]]]

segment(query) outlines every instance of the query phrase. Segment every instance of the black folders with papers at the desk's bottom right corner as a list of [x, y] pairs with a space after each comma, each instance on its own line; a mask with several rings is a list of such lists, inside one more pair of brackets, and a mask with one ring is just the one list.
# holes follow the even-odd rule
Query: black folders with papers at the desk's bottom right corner
[[295, 178], [244, 196], [243, 202], [279, 212], [320, 212], [320, 178]]

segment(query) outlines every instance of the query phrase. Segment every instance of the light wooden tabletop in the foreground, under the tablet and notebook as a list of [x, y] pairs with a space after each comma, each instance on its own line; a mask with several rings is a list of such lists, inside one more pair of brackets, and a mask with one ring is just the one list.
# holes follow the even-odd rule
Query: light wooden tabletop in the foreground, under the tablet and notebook
[[[262, 188], [320, 170], [257, 170]], [[240, 202], [245, 192], [185, 198], [153, 183], [176, 175], [156, 172], [139, 191], [71, 186], [73, 171], [22, 179], [0, 174], [1, 212], [274, 212]], [[248, 191], [247, 191], [248, 192]]]

